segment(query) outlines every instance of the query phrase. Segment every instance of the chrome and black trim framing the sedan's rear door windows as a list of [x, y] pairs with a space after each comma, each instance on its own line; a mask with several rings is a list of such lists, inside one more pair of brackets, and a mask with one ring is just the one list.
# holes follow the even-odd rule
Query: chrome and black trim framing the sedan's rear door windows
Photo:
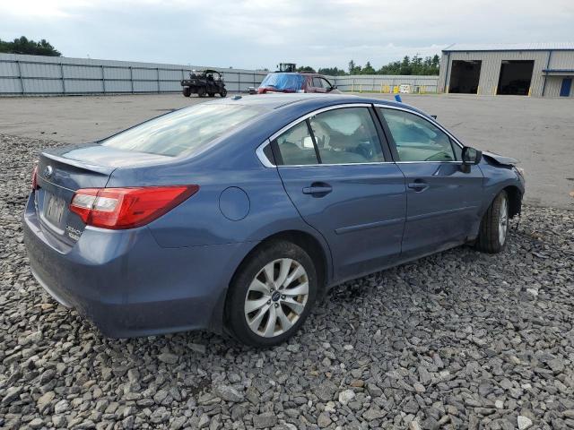
[[[378, 142], [379, 145], [381, 145], [381, 149], [383, 151], [383, 157], [385, 158], [385, 161], [370, 161], [367, 163], [341, 163], [341, 164], [327, 164], [327, 163], [321, 163], [321, 164], [305, 164], [305, 165], [283, 165], [283, 159], [281, 158], [281, 154], [279, 153], [279, 148], [277, 148], [277, 144], [276, 144], [276, 139], [277, 137], [279, 137], [280, 135], [282, 135], [283, 133], [285, 133], [287, 130], [291, 129], [291, 127], [294, 127], [295, 125], [300, 124], [302, 121], [306, 121], [308, 123], [308, 127], [309, 127], [309, 118], [312, 116], [316, 116], [318, 114], [321, 114], [323, 112], [327, 112], [329, 110], [335, 110], [335, 109], [342, 109], [345, 107], [367, 107], [370, 111], [370, 116], [371, 119], [373, 121], [373, 125], [375, 126], [375, 128], [377, 128], [377, 133], [379, 133], [378, 130], [378, 122], [376, 120], [376, 117], [378, 116], [378, 113], [375, 113], [375, 116], [373, 116], [373, 106], [380, 106], [380, 105], [373, 105], [372, 103], [346, 103], [346, 104], [341, 104], [341, 105], [332, 105], [332, 106], [328, 106], [328, 107], [321, 107], [317, 110], [314, 110], [312, 112], [309, 112], [308, 114], [305, 114], [304, 116], [300, 116], [299, 118], [293, 120], [291, 123], [289, 123], [288, 125], [283, 126], [281, 129], [279, 129], [277, 132], [273, 133], [271, 135], [271, 137], [269, 137], [269, 139], [265, 140], [265, 142], [261, 143], [257, 149], [256, 149], [256, 155], [257, 155], [257, 159], [259, 159], [259, 161], [261, 162], [261, 164], [263, 164], [265, 166], [265, 168], [278, 168], [278, 167], [282, 167], [282, 168], [309, 168], [311, 166], [315, 167], [315, 166], [361, 166], [361, 164], [388, 164], [388, 163], [394, 163], [395, 161], [388, 158], [387, 156], [387, 150], [385, 148], [385, 143], [387, 143], [387, 145], [390, 147], [391, 145], [388, 143], [387, 140], [387, 135], [385, 135], [385, 142], [382, 141], [381, 139], [381, 135], [378, 135]], [[377, 109], [375, 109], [377, 110]], [[309, 127], [310, 130], [310, 127]], [[312, 130], [310, 130], [310, 132], [312, 133]], [[385, 132], [385, 134], [387, 134], [387, 132]], [[316, 150], [317, 150], [317, 144], [315, 142], [315, 136], [314, 134], [312, 134], [313, 136], [313, 145], [315, 146]], [[267, 159], [267, 157], [265, 157], [265, 146], [267, 145], [271, 145], [271, 150], [273, 151], [273, 155], [274, 155], [274, 159], [276, 161], [276, 164], [273, 163], [273, 161]]]

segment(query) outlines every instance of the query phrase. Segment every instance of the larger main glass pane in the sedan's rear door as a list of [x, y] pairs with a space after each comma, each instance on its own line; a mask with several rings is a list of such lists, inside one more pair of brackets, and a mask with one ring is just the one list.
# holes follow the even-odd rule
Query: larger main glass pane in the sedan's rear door
[[384, 161], [378, 134], [367, 107], [344, 107], [310, 118], [324, 164]]

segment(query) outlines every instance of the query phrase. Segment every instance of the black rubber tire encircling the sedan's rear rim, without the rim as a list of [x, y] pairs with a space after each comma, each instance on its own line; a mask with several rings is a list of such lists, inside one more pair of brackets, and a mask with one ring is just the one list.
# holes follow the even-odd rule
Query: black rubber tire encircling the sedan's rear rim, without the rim
[[[307, 298], [307, 304], [299, 320], [293, 324], [289, 331], [273, 338], [264, 338], [251, 331], [248, 326], [244, 314], [245, 297], [247, 296], [251, 281], [265, 264], [281, 258], [291, 258], [299, 262], [305, 271], [307, 271], [309, 278], [309, 297]], [[248, 258], [248, 261], [241, 265], [236, 276], [231, 281], [230, 291], [225, 305], [227, 327], [237, 340], [252, 347], [267, 348], [283, 343], [285, 340], [291, 338], [291, 336], [300, 329], [300, 326], [305, 323], [315, 304], [317, 287], [315, 265], [309, 257], [309, 254], [300, 248], [300, 246], [290, 242], [275, 242], [271, 245], [265, 245], [252, 254]]]

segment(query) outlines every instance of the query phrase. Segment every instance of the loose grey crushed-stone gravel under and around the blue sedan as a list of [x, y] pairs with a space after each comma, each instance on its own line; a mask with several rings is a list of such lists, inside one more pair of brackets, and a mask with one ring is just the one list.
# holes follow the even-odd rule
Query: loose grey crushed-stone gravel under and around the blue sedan
[[335, 288], [278, 348], [109, 340], [28, 268], [31, 164], [56, 144], [0, 135], [0, 426], [574, 428], [574, 212], [527, 207], [502, 254], [461, 247]]

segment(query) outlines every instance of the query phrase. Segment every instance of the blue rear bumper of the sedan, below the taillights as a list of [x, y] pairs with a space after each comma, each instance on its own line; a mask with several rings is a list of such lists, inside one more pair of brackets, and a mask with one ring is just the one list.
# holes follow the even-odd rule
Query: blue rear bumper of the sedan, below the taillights
[[172, 331], [222, 331], [233, 272], [253, 244], [162, 248], [149, 228], [86, 228], [58, 251], [30, 201], [23, 216], [30, 268], [59, 303], [73, 307], [109, 337]]

